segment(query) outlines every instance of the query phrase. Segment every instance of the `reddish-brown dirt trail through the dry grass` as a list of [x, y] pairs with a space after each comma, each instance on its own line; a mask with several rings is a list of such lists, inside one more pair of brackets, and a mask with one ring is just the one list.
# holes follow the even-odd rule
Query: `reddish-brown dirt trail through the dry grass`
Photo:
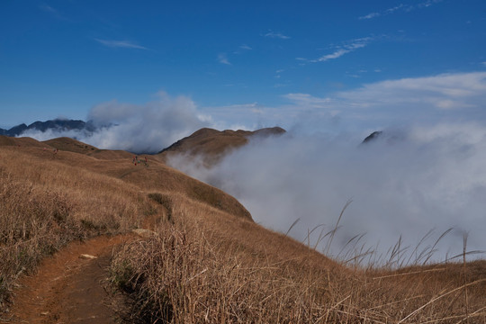
[[[133, 235], [74, 242], [23, 276], [14, 305], [1, 323], [114, 323], [112, 298], [104, 289], [112, 248]], [[81, 255], [96, 258], [83, 258]]]

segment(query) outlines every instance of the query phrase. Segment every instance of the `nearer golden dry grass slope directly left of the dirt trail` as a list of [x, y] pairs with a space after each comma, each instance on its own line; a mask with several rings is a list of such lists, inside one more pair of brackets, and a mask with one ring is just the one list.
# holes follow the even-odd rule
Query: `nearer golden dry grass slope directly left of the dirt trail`
[[136, 227], [149, 208], [136, 187], [52, 157], [43, 148], [0, 148], [2, 300], [41, 257], [74, 239]]

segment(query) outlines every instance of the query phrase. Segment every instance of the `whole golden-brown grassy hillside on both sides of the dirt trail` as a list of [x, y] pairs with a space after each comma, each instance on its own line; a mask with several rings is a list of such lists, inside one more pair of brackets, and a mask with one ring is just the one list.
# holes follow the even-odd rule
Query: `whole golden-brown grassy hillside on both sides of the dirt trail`
[[127, 152], [96, 155], [67, 139], [56, 154], [58, 141], [2, 140], [3, 308], [18, 276], [67, 242], [149, 223], [153, 236], [112, 259], [130, 322], [486, 321], [485, 261], [349, 268], [262, 228], [228, 194], [154, 157], [135, 166]]

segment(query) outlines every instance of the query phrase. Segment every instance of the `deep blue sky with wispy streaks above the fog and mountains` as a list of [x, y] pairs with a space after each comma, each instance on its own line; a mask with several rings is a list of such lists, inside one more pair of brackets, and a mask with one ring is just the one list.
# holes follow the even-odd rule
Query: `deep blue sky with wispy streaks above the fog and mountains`
[[480, 0], [0, 3], [3, 128], [159, 94], [220, 128], [484, 121], [484, 73]]

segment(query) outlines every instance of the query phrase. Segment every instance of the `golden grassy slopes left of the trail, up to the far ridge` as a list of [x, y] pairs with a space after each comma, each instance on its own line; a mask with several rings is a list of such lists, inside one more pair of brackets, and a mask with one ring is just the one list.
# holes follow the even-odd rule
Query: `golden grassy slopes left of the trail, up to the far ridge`
[[[32, 272], [42, 257], [67, 242], [125, 232], [164, 217], [167, 211], [148, 198], [151, 188], [173, 188], [250, 218], [234, 198], [155, 160], [133, 166], [128, 152], [103, 154], [72, 139], [49, 143], [68, 150], [54, 153], [35, 139], [2, 137], [0, 305], [19, 275]], [[88, 156], [92, 151], [102, 157]]]

